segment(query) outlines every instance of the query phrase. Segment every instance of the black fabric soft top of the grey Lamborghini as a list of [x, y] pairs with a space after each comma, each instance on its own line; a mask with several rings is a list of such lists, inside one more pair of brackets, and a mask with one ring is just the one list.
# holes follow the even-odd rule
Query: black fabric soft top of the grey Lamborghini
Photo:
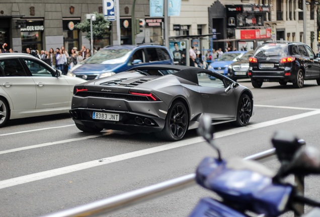
[[199, 72], [211, 72], [210, 70], [207, 69], [202, 69], [202, 68], [197, 68], [193, 66], [182, 66], [182, 65], [145, 65], [145, 66], [137, 66], [132, 69], [132, 70], [143, 70], [143, 69], [157, 69], [157, 70], [177, 70], [177, 72], [173, 73], [172, 75], [184, 78], [188, 81], [191, 81], [193, 83], [198, 84], [198, 76], [197, 73]]

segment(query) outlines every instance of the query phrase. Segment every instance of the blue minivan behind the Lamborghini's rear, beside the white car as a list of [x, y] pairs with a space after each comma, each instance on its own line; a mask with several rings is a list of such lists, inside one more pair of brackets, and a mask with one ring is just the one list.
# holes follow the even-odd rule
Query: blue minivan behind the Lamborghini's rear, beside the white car
[[129, 70], [136, 66], [169, 64], [174, 60], [162, 45], [111, 45], [100, 49], [81, 64], [76, 64], [67, 75], [94, 80]]

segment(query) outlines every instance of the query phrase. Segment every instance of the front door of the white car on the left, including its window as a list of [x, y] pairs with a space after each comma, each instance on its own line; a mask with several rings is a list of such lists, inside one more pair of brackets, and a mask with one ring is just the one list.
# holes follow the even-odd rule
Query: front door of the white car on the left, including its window
[[36, 83], [36, 108], [66, 107], [69, 105], [69, 84], [63, 77], [54, 77], [51, 68], [40, 60], [24, 59]]

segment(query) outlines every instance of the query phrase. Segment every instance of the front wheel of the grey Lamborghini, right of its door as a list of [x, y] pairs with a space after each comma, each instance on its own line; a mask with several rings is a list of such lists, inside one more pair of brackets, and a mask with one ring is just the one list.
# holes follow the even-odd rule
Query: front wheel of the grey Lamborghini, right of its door
[[237, 106], [235, 125], [239, 127], [247, 126], [252, 115], [252, 108], [253, 103], [249, 95], [242, 94]]

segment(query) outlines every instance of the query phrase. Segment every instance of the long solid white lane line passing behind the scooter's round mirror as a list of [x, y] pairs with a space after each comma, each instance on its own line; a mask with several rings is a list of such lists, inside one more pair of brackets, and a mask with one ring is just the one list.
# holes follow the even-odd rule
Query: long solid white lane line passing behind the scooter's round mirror
[[[249, 125], [247, 127], [236, 128], [236, 129], [232, 129], [232, 130], [228, 130], [228, 131], [224, 131], [224, 132], [218, 132], [215, 134], [215, 138], [221, 138], [221, 137], [225, 137], [225, 136], [229, 136], [229, 135], [234, 135], [237, 133], [243, 133], [246, 131], [256, 130], [259, 128], [268, 127], [268, 126], [272, 126], [272, 125], [276, 125], [276, 124], [281, 124], [281, 123], [285, 123], [285, 122], [289, 122], [289, 121], [293, 121], [293, 120], [297, 120], [297, 119], [301, 119], [301, 118], [306, 118], [306, 117], [310, 117], [310, 116], [314, 116], [314, 115], [319, 115], [319, 114], [320, 114], [320, 110], [317, 110], [317, 111], [307, 112], [307, 113], [294, 115], [294, 116], [290, 116], [290, 117], [280, 118], [280, 119], [276, 119], [276, 120], [272, 120], [272, 121], [267, 121], [267, 122], [263, 122], [263, 123], [259, 123], [259, 124]], [[170, 150], [170, 149], [174, 149], [174, 148], [192, 145], [192, 144], [203, 142], [203, 141], [204, 140], [202, 137], [196, 137], [196, 138], [192, 138], [192, 139], [188, 139], [188, 140], [181, 140], [178, 142], [174, 142], [174, 143], [170, 143], [170, 144], [166, 144], [166, 145], [162, 145], [162, 146], [158, 146], [158, 147], [153, 147], [153, 148], [143, 149], [143, 150], [135, 151], [135, 152], [131, 152], [131, 153], [121, 154], [121, 155], [117, 155], [117, 156], [113, 156], [113, 157], [88, 161], [88, 162], [84, 162], [84, 163], [74, 164], [74, 165], [70, 165], [70, 166], [66, 166], [66, 167], [61, 167], [61, 168], [47, 170], [47, 171], [43, 171], [43, 172], [39, 172], [39, 173], [33, 173], [30, 175], [7, 179], [7, 180], [0, 181], [0, 189], [15, 186], [15, 185], [20, 185], [20, 184], [24, 184], [24, 183], [28, 183], [28, 182], [32, 182], [32, 181], [37, 181], [37, 180], [41, 180], [41, 179], [45, 179], [45, 178], [50, 178], [53, 176], [76, 172], [76, 171], [80, 171], [80, 170], [84, 170], [84, 169], [88, 169], [88, 168], [92, 168], [92, 167], [96, 167], [96, 166], [102, 166], [102, 165], [106, 165], [106, 164], [110, 164], [110, 163], [114, 163], [114, 162], [118, 162], [118, 161], [122, 161], [122, 160], [127, 160], [130, 158], [135, 158], [135, 157], [139, 157], [139, 156], [143, 156], [143, 155], [153, 154], [153, 153], [157, 153], [157, 152], [161, 152], [161, 151], [166, 151], [166, 150]]]

